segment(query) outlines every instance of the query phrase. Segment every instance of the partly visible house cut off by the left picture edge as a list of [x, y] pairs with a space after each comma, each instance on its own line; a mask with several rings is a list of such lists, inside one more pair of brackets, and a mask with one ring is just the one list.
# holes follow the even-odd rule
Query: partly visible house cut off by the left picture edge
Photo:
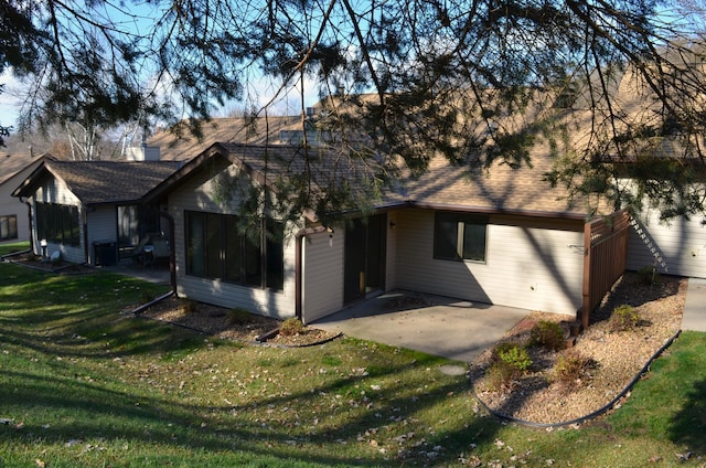
[[0, 156], [0, 243], [30, 240], [28, 206], [13, 198], [12, 191], [44, 159], [30, 153]]

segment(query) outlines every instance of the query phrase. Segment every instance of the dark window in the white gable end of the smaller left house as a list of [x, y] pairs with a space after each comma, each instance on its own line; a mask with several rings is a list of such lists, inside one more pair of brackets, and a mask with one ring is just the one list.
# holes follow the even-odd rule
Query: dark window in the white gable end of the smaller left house
[[57, 203], [36, 203], [40, 240], [77, 247], [81, 245], [78, 208]]

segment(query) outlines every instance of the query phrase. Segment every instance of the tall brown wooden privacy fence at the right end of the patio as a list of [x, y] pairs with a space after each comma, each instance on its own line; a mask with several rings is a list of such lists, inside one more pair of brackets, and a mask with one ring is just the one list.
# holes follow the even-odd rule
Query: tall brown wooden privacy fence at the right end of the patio
[[630, 214], [625, 210], [586, 223], [584, 227], [584, 301], [581, 327], [606, 292], [625, 272]]

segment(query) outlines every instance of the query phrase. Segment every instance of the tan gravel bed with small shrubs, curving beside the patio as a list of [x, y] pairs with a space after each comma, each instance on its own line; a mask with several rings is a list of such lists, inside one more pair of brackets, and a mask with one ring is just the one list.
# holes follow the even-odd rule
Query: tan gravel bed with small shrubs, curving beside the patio
[[[524, 375], [502, 389], [494, 389], [486, 350], [470, 366], [478, 397], [493, 412], [538, 424], [557, 424], [582, 418], [602, 408], [631, 383], [650, 359], [680, 330], [687, 283], [664, 277], [659, 285], [644, 285], [635, 274], [625, 274], [591, 316], [591, 325], [577, 338], [574, 349], [592, 363], [575, 382], [555, 376], [559, 352], [530, 348], [534, 364]], [[613, 331], [610, 317], [616, 307], [630, 305], [640, 315], [629, 331]], [[574, 317], [533, 312], [503, 341], [527, 343], [532, 326], [539, 320], [557, 321], [568, 330]]]

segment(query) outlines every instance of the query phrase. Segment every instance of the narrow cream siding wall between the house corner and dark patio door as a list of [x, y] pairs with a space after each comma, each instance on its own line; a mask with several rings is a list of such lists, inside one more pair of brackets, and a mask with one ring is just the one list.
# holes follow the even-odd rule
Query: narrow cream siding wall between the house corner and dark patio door
[[343, 308], [343, 245], [345, 230], [302, 240], [302, 319], [306, 323]]

